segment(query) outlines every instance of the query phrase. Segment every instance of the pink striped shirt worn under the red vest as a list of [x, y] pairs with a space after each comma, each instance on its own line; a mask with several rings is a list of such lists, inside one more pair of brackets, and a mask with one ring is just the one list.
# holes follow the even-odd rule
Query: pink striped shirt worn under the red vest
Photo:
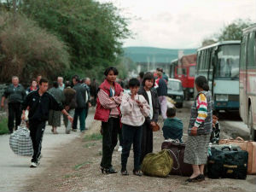
[[119, 105], [122, 102], [123, 92], [121, 92], [120, 96], [112, 96], [109, 97], [108, 94], [100, 89], [98, 92], [98, 98], [103, 108], [110, 109], [110, 117], [119, 117]]

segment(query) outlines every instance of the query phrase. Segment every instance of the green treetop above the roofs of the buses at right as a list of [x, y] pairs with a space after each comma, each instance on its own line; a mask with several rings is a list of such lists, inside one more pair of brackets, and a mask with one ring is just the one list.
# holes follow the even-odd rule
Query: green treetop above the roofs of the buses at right
[[215, 38], [218, 41], [241, 40], [242, 30], [252, 24], [251, 20], [235, 20], [230, 25], [224, 26], [221, 32], [215, 35]]

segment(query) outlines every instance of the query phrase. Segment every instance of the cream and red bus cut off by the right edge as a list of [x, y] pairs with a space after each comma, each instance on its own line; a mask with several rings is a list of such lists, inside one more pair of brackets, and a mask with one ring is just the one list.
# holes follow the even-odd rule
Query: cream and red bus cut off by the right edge
[[256, 140], [256, 24], [243, 30], [240, 51], [240, 116]]

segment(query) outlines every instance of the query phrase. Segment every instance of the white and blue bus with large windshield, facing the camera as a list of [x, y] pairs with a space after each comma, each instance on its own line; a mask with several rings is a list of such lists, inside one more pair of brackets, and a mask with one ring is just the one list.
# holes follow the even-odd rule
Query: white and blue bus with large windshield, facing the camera
[[197, 50], [195, 77], [207, 78], [217, 111], [239, 111], [239, 55], [240, 41], [218, 42]]

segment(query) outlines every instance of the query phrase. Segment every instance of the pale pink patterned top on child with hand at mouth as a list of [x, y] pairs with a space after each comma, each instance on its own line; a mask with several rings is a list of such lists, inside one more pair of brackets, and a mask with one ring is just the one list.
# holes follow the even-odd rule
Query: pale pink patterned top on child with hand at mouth
[[[136, 100], [142, 103], [142, 108], [138, 106], [137, 102], [135, 102]], [[148, 117], [150, 113], [148, 102], [144, 96], [141, 95], [136, 95], [135, 99], [132, 100], [129, 94], [124, 94], [120, 110], [122, 113], [121, 122], [125, 125], [131, 126], [143, 125], [145, 117]]]

